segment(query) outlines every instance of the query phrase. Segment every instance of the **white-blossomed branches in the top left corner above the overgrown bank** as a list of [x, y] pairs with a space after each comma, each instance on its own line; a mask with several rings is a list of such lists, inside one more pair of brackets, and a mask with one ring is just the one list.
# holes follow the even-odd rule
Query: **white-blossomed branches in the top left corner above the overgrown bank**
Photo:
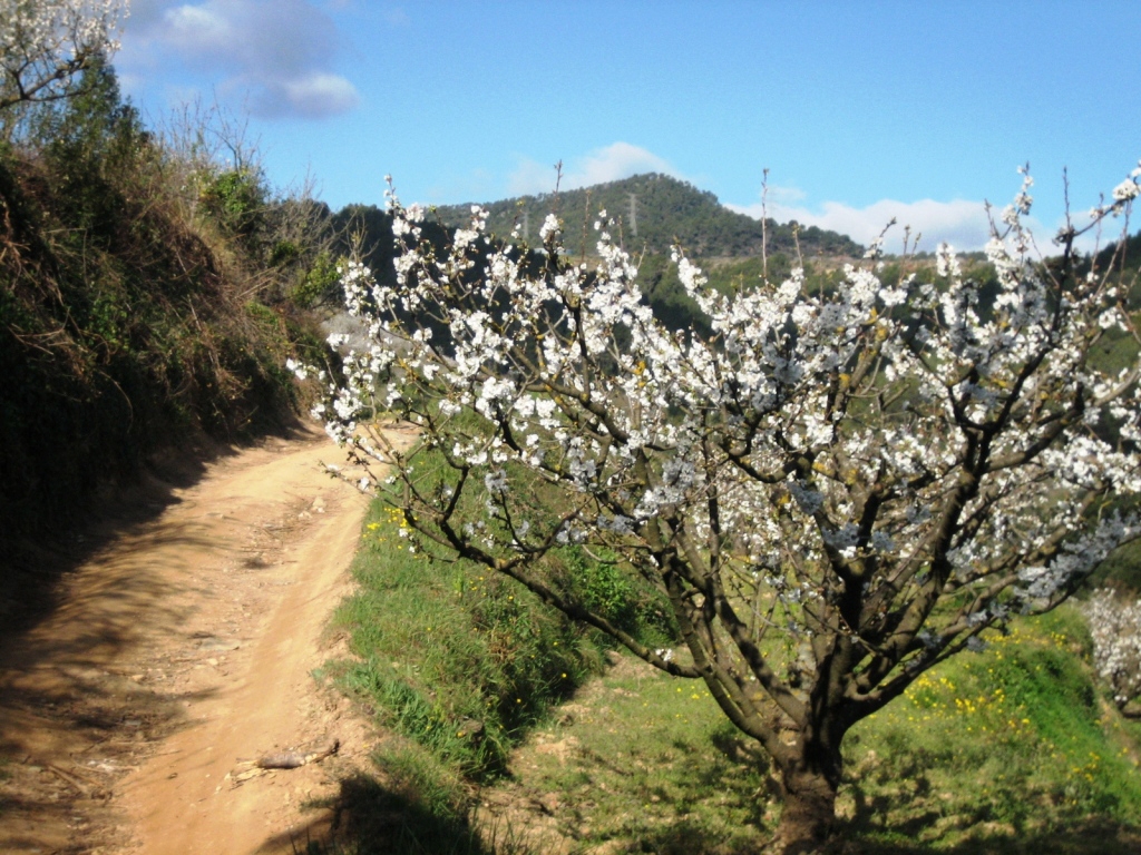
[[72, 92], [75, 76], [119, 49], [127, 0], [0, 0], [0, 109]]

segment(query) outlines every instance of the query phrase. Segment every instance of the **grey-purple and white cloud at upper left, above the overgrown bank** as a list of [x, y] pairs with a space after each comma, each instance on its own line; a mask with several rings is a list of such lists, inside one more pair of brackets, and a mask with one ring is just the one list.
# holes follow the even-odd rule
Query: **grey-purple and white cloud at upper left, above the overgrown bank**
[[332, 19], [305, 0], [136, 0], [121, 62], [138, 78], [175, 58], [256, 115], [323, 119], [359, 100], [332, 71], [338, 47]]

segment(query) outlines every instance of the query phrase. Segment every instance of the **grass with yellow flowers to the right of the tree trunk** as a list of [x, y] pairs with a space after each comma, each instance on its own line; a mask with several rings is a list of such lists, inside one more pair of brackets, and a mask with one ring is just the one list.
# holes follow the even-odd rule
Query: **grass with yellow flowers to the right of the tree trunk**
[[[921, 676], [848, 735], [841, 813], [869, 844], [932, 849], [1136, 823], [1139, 734], [1094, 686], [1089, 646], [1062, 609]], [[1100, 850], [1135, 852], [1139, 831]]]

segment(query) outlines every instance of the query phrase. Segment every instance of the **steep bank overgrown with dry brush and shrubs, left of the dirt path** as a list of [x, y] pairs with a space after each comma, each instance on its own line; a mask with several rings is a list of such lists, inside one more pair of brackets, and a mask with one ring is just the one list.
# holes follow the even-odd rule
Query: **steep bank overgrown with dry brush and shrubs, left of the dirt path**
[[[327, 267], [321, 211], [276, 196], [217, 119], [149, 130], [110, 67], [0, 115], [0, 539], [16, 564], [13, 542], [58, 536], [161, 449], [250, 437], [297, 405], [284, 361], [319, 347], [293, 298]], [[5, 573], [0, 613], [42, 587], [29, 576]]]

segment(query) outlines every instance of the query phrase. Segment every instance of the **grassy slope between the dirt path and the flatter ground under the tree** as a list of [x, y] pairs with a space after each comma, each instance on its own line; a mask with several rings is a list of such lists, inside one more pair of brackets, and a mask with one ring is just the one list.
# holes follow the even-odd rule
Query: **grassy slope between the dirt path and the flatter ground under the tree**
[[[431, 456], [416, 465], [430, 470]], [[508, 774], [526, 733], [602, 671], [608, 644], [483, 568], [413, 552], [406, 534], [400, 512], [378, 500], [359, 589], [337, 618], [355, 659], [330, 675], [400, 734], [378, 752], [381, 783], [356, 790], [351, 836], [361, 852], [482, 852], [468, 821], [477, 788]], [[647, 643], [670, 643], [665, 604], [613, 565], [567, 547], [547, 572]]]

